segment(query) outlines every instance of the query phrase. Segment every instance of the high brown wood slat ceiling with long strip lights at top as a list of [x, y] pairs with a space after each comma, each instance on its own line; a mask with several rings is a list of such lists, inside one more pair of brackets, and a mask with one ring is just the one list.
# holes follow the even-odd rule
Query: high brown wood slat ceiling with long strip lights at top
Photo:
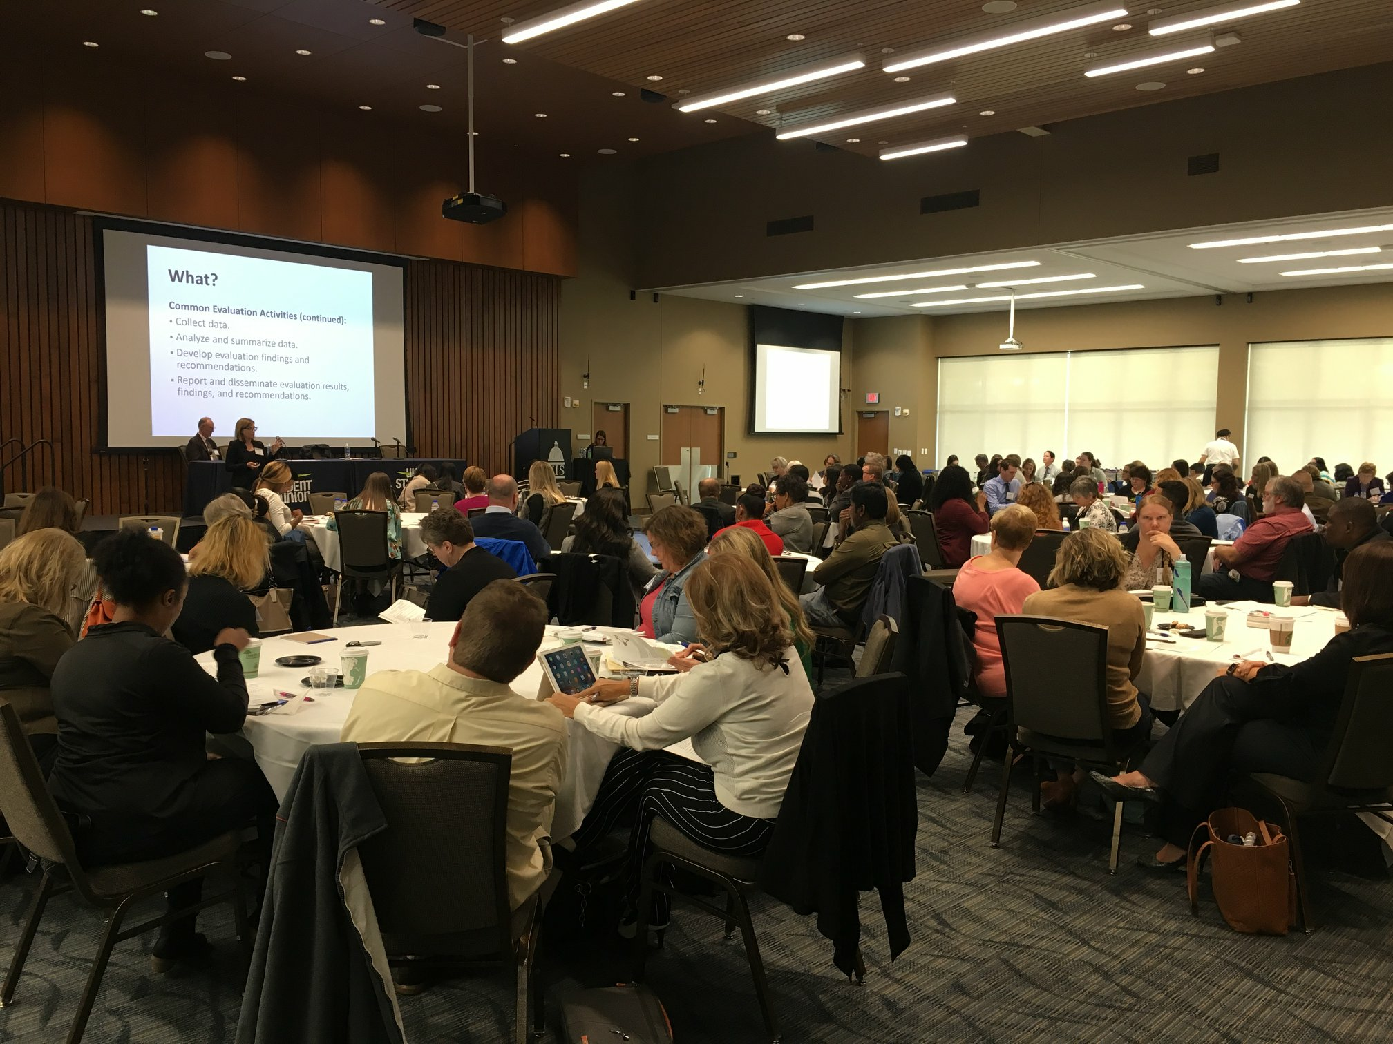
[[[454, 31], [496, 38], [500, 21], [518, 21], [563, 6], [510, 3], [508, 0], [378, 0], [379, 6], [440, 22]], [[823, 84], [805, 85], [777, 95], [724, 106], [727, 116], [769, 127], [820, 121], [858, 109], [905, 102], [937, 92], [951, 92], [958, 106], [922, 117], [875, 124], [864, 134], [829, 135], [844, 148], [873, 155], [879, 141], [903, 142], [939, 132], [971, 135], [1073, 120], [1177, 97], [1192, 97], [1277, 79], [1328, 72], [1336, 68], [1387, 61], [1393, 57], [1393, 7], [1389, 0], [1305, 0], [1300, 7], [1273, 11], [1231, 24], [1243, 43], [1201, 58], [1158, 65], [1106, 78], [1087, 79], [1084, 70], [1098, 61], [1126, 58], [1165, 46], [1177, 38], [1152, 38], [1146, 24], [1163, 15], [1212, 7], [1213, 0], [1153, 0], [1159, 15], [1142, 3], [1123, 3], [1131, 29], [1091, 26], [1055, 38], [1032, 40], [958, 61], [908, 70], [910, 81], [896, 84], [880, 71], [883, 49], [897, 53], [1006, 31], [1014, 22], [1077, 7], [1080, 0], [1024, 0], [1002, 15], [985, 14], [979, 0], [642, 0], [517, 45], [518, 53], [536, 54], [635, 86], [667, 95], [706, 93], [747, 84], [795, 65], [820, 61], [847, 52], [866, 56], [868, 68]], [[788, 33], [804, 33], [790, 42]], [[1181, 33], [1204, 36], [1206, 31]], [[1096, 57], [1085, 57], [1085, 53]], [[1187, 67], [1204, 74], [1187, 75]], [[649, 82], [648, 75], [662, 75]], [[1139, 92], [1141, 82], [1166, 86]], [[775, 109], [758, 116], [758, 109]], [[981, 117], [982, 110], [995, 116]], [[720, 113], [691, 114], [699, 121]], [[724, 121], [723, 121], [724, 122]], [[861, 143], [850, 146], [848, 136]]]

